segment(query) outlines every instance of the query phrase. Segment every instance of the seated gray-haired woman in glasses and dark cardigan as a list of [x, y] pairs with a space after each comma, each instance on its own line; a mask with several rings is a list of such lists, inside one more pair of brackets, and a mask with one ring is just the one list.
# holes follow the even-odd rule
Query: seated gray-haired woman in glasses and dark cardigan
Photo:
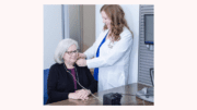
[[90, 70], [76, 64], [78, 42], [67, 38], [58, 44], [55, 52], [56, 63], [50, 66], [47, 90], [47, 103], [65, 99], [88, 99], [91, 93], [97, 91], [97, 81]]

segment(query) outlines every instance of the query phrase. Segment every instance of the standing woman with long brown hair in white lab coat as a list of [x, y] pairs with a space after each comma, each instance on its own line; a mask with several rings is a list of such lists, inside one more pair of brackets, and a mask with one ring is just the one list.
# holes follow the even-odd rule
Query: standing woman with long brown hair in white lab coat
[[77, 64], [89, 69], [99, 68], [99, 91], [102, 91], [127, 85], [132, 33], [119, 5], [103, 5], [100, 12], [104, 29], [92, 47], [79, 53], [86, 60], [79, 59]]

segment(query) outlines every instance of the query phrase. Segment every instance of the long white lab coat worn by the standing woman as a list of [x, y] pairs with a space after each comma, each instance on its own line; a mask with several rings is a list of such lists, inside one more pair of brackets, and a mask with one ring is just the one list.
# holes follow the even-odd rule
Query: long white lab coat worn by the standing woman
[[[88, 68], [99, 68], [99, 91], [127, 85], [128, 82], [132, 46], [131, 33], [127, 27], [124, 27], [120, 40], [112, 44], [113, 48], [108, 47], [111, 40], [106, 39], [100, 48], [100, 57], [96, 58], [97, 48], [107, 33], [108, 29], [103, 30], [93, 46], [84, 52], [88, 58]], [[91, 59], [92, 57], [95, 58]]]

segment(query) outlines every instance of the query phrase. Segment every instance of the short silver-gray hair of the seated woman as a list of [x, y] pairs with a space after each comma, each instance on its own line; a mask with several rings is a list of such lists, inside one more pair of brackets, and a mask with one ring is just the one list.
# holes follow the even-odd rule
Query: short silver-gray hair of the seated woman
[[54, 56], [56, 63], [59, 63], [59, 64], [63, 63], [63, 54], [68, 50], [68, 48], [72, 45], [76, 45], [77, 49], [79, 48], [78, 42], [71, 38], [62, 39], [58, 44], [56, 51], [55, 51], [55, 56]]

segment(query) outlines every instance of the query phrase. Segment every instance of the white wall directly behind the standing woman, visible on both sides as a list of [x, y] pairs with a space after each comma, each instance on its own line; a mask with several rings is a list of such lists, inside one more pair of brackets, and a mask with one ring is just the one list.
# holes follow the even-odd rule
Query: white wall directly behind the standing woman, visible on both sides
[[[100, 14], [100, 9], [103, 4], [96, 4], [96, 37], [101, 33], [104, 24], [102, 21], [102, 16]], [[138, 41], [139, 41], [139, 4], [120, 4], [125, 12], [125, 17], [127, 20], [129, 28], [134, 33], [134, 42], [132, 42], [132, 51], [130, 54], [130, 74], [128, 83], [137, 83], [138, 82]], [[96, 38], [95, 37], [95, 38]]]

